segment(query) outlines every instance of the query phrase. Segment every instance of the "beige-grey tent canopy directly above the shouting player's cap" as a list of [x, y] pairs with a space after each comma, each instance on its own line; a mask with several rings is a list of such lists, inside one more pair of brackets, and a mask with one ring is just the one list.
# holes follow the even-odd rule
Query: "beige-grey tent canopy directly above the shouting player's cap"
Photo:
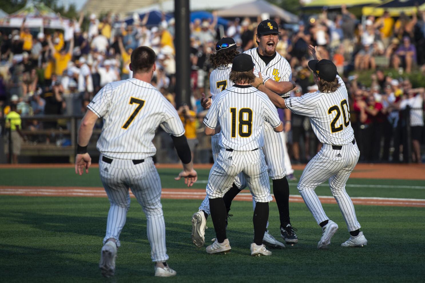
[[298, 22], [298, 17], [296, 15], [264, 0], [242, 3], [218, 11], [219, 17], [258, 17], [258, 15], [261, 14], [269, 14], [270, 17], [280, 17], [286, 23]]

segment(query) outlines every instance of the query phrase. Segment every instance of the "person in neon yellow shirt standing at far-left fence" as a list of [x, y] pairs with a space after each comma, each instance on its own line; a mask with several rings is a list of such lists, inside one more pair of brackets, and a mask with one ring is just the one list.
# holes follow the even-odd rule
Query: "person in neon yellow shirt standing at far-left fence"
[[[20, 131], [22, 128], [21, 123], [21, 116], [19, 115], [19, 113], [17, 113], [16, 104], [12, 103], [10, 105], [9, 113], [6, 115], [6, 128], [8, 130], [10, 129], [12, 163], [18, 163], [18, 156], [21, 153], [22, 140], [24, 139], [24, 136]], [[6, 135], [4, 152], [7, 155], [7, 160], [9, 160], [9, 135]]]

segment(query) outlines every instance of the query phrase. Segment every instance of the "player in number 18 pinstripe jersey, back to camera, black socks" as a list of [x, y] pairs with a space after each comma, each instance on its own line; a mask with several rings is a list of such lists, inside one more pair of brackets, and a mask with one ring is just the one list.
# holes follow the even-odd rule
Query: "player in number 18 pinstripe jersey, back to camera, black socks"
[[256, 206], [254, 210], [254, 243], [251, 255], [271, 255], [263, 245], [269, 218], [269, 175], [264, 160], [264, 124], [269, 123], [276, 132], [283, 130], [278, 112], [264, 93], [252, 87], [255, 79], [254, 64], [247, 54], [233, 59], [229, 79], [235, 85], [221, 92], [204, 118], [207, 135], [221, 134], [220, 152], [208, 177], [207, 195], [210, 198], [212, 223], [216, 239], [207, 246], [207, 253], [226, 253], [231, 247], [226, 235], [227, 210], [224, 194], [243, 173]]

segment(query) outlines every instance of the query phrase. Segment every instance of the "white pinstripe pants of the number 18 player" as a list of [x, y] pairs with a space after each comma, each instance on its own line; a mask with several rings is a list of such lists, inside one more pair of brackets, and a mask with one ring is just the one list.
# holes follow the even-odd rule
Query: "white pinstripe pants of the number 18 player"
[[222, 148], [208, 176], [207, 196], [222, 198], [232, 186], [236, 175], [244, 173], [252, 198], [258, 202], [272, 201], [269, 176], [262, 149], [227, 151]]

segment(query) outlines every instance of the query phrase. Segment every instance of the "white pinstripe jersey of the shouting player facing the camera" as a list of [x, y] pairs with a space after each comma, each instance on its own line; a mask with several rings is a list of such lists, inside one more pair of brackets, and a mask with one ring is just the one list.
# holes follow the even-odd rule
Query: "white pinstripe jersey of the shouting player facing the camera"
[[[273, 79], [276, 82], [289, 82], [292, 79], [291, 65], [289, 65], [289, 62], [278, 52], [276, 52], [276, 57], [267, 65], [258, 55], [257, 48], [248, 49], [244, 53], [252, 57], [252, 61], [255, 64], [255, 70], [261, 71], [264, 82], [267, 79]], [[289, 92], [280, 94], [289, 96]]]

